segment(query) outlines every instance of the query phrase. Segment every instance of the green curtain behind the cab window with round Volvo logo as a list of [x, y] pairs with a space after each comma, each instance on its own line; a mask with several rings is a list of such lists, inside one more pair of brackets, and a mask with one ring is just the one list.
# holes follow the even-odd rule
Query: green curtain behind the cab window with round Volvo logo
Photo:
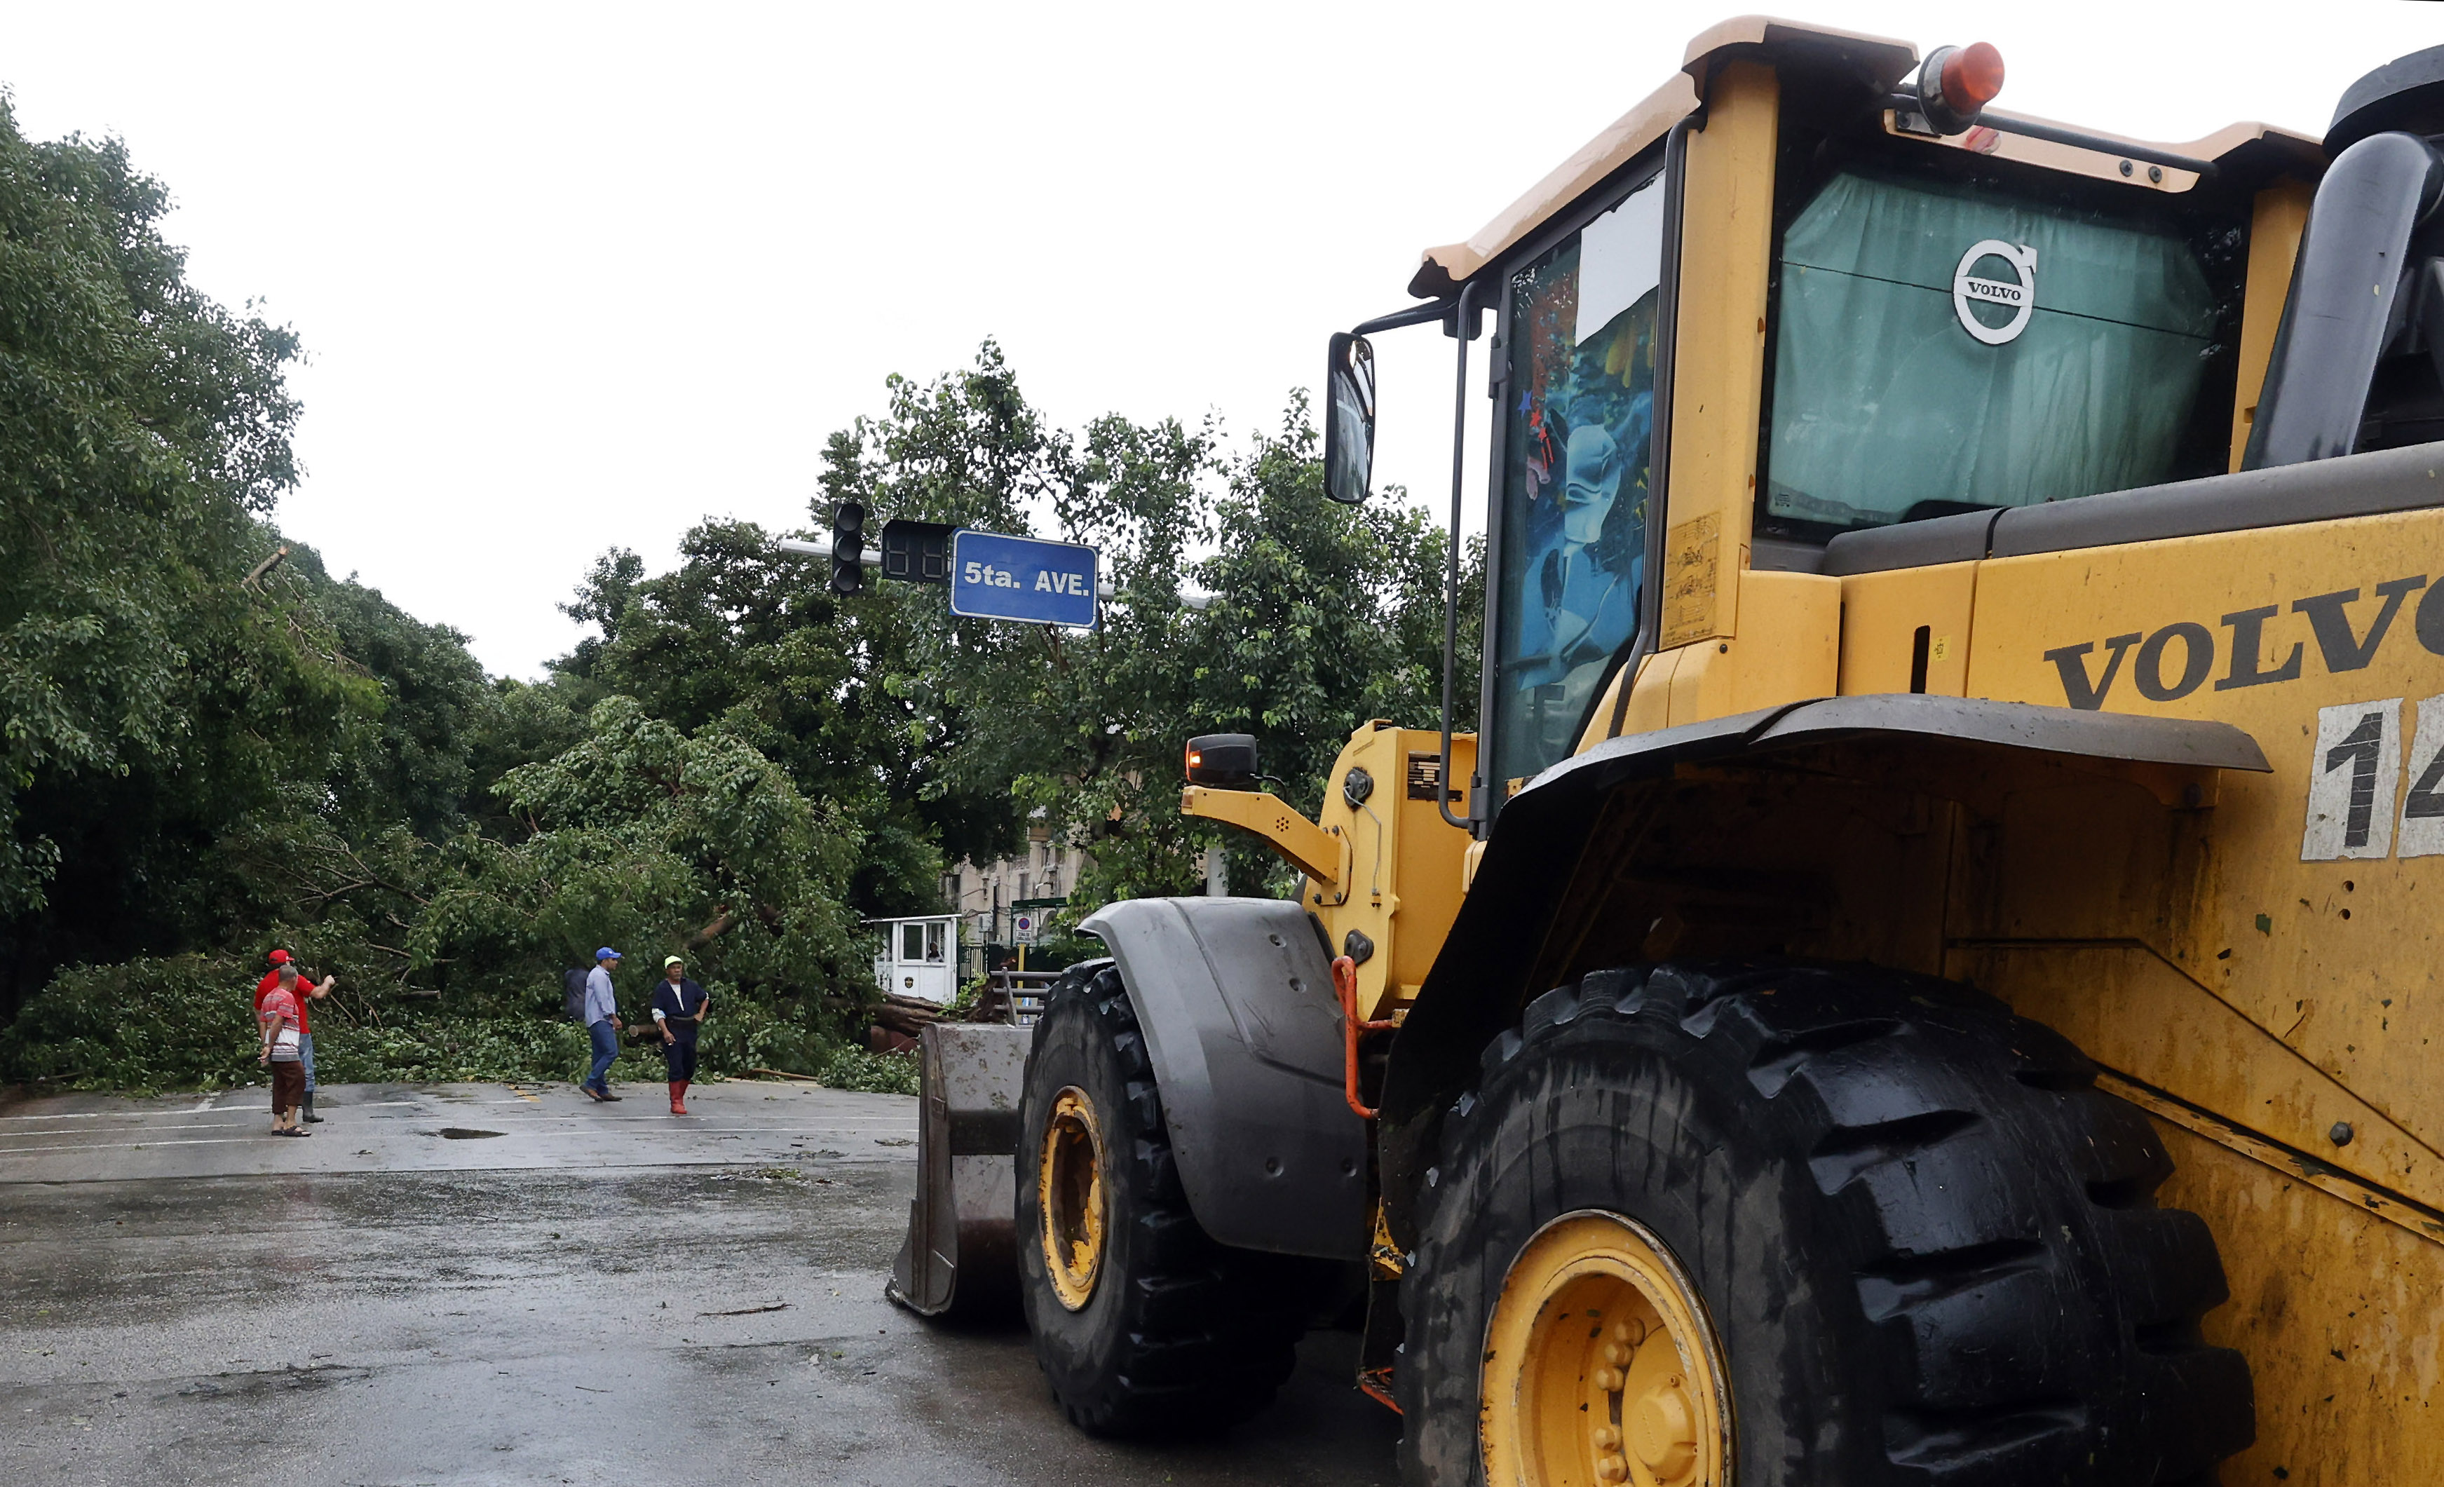
[[[1982, 240], [2036, 249], [2036, 311], [2007, 345], [1953, 308]], [[1779, 271], [1767, 511], [1831, 526], [2165, 479], [2217, 323], [2178, 237], [1850, 174], [1789, 225]], [[2011, 279], [1999, 259], [1972, 271]]]

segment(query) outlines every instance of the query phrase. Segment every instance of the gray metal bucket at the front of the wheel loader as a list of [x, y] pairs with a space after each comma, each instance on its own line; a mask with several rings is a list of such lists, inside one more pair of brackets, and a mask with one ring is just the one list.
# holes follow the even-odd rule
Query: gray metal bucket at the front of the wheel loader
[[1029, 1027], [938, 1022], [919, 1039], [916, 1198], [885, 1294], [919, 1316], [1014, 1311], [1019, 1096]]

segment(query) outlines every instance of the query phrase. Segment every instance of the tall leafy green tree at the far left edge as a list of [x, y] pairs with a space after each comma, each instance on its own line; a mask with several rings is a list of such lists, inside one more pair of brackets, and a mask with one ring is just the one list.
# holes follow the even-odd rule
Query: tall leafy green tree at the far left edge
[[[308, 677], [315, 629], [240, 577], [296, 479], [296, 338], [183, 281], [169, 201], [120, 142], [32, 144], [0, 100], [0, 951], [95, 836], [139, 834], [142, 876], [266, 797], [310, 753], [259, 731]], [[264, 624], [269, 621], [269, 624]], [[181, 841], [183, 839], [183, 841]], [[110, 854], [105, 854], [108, 861]], [[71, 917], [120, 915], [78, 885]], [[61, 929], [66, 944], [61, 944]], [[34, 961], [73, 954], [39, 932]], [[15, 1003], [0, 983], [0, 1008]]]

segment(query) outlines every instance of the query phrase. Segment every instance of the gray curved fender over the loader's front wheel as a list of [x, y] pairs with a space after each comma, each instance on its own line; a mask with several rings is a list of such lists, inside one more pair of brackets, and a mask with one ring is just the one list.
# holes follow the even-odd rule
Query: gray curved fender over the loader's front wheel
[[1242, 1250], [1366, 1255], [1366, 1123], [1308, 912], [1278, 898], [1134, 898], [1078, 924], [1146, 1035], [1188, 1208]]

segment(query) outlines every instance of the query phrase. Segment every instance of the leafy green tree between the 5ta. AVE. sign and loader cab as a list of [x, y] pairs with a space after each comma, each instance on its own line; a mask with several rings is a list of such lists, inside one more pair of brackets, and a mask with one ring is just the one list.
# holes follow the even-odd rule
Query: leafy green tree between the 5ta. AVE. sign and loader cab
[[[1317, 452], [1303, 394], [1237, 455], [1212, 423], [1102, 418], [1088, 430], [1056, 511], [1063, 536], [1105, 553], [1119, 602], [1092, 636], [1044, 633], [978, 685], [992, 704], [951, 766], [1014, 780], [1019, 800], [1088, 841], [1095, 868], [1070, 893], [1073, 920], [1112, 898], [1200, 893], [1215, 844], [1242, 893], [1288, 890], [1288, 868], [1246, 834], [1178, 814], [1190, 736], [1256, 734], [1276, 790], [1312, 812], [1325, 768], [1366, 719], [1435, 726], [1444, 538], [1396, 492], [1356, 511], [1325, 501]], [[1471, 545], [1464, 614], [1481, 567]], [[1185, 609], [1183, 582], [1212, 604]], [[1474, 717], [1474, 624], [1462, 631], [1459, 726]]]

